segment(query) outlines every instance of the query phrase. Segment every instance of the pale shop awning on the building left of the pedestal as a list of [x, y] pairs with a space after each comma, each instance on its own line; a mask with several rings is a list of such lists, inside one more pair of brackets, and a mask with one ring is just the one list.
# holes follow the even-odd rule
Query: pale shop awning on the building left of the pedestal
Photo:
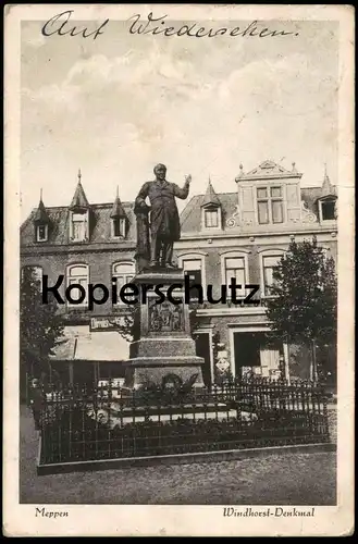
[[76, 332], [66, 327], [53, 349], [51, 360], [123, 361], [129, 357], [129, 343], [113, 331]]

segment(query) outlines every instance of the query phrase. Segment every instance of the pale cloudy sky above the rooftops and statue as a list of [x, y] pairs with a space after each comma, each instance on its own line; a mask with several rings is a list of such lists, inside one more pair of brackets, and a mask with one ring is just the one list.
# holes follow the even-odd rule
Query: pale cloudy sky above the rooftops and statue
[[138, 36], [110, 21], [94, 41], [23, 23], [22, 218], [40, 187], [47, 206], [69, 205], [78, 168], [90, 202], [112, 201], [118, 185], [134, 199], [157, 162], [178, 184], [192, 173], [192, 195], [209, 176], [233, 191], [240, 162], [266, 159], [296, 162], [303, 186], [319, 185], [326, 162], [336, 183], [337, 27], [269, 24], [298, 36]]

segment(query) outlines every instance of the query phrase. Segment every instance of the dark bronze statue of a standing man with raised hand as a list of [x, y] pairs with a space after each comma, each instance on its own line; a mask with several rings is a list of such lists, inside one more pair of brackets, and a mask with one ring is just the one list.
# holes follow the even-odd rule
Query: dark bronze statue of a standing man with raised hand
[[[135, 200], [135, 212], [148, 210], [150, 201], [150, 268], [175, 268], [172, 262], [173, 244], [181, 237], [181, 224], [175, 197], [185, 199], [189, 194], [192, 176], [185, 177], [183, 188], [165, 180], [166, 166], [157, 164], [156, 180], [143, 185]], [[141, 240], [138, 240], [140, 245]]]

